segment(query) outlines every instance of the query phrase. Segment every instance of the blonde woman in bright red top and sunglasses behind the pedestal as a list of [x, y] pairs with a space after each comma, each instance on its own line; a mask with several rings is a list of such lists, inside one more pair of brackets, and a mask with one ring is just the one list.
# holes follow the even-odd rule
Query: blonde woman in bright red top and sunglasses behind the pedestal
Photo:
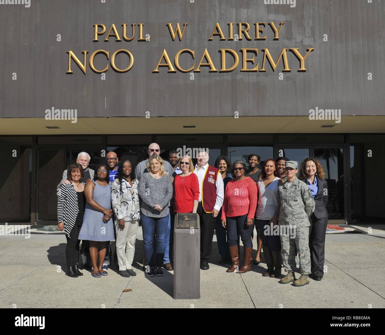
[[194, 166], [189, 156], [183, 156], [178, 162], [182, 173], [174, 179], [174, 212], [196, 213], [199, 199], [198, 177], [192, 173]]

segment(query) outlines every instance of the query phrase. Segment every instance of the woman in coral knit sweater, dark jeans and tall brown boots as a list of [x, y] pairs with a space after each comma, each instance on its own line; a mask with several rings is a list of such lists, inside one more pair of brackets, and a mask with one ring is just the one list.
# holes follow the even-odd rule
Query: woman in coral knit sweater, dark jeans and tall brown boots
[[233, 177], [226, 186], [222, 207], [222, 225], [227, 231], [231, 261], [233, 264], [226, 272], [234, 272], [239, 268], [237, 236], [241, 235], [244, 259], [238, 273], [251, 270], [250, 261], [253, 252], [251, 232], [257, 208], [258, 189], [254, 180], [246, 177], [246, 166], [240, 160], [233, 163]]

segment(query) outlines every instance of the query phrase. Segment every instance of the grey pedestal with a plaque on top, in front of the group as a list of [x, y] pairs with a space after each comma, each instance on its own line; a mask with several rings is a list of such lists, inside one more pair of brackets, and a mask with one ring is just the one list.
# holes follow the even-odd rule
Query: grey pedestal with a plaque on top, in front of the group
[[201, 297], [199, 215], [177, 213], [174, 219], [174, 299]]

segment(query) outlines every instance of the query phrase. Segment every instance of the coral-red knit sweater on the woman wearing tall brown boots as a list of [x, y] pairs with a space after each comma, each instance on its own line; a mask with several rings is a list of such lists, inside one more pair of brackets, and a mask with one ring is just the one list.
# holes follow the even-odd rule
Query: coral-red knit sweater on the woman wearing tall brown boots
[[258, 189], [253, 179], [246, 177], [238, 182], [234, 179], [230, 180], [226, 185], [221, 219], [226, 219], [226, 216], [234, 217], [244, 214], [248, 214], [247, 217], [254, 219], [257, 200]]

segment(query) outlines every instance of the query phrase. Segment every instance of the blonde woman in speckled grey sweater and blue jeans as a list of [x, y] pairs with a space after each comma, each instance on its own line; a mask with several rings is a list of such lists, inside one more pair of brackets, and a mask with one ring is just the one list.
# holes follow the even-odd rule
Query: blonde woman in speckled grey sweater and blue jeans
[[[142, 199], [141, 224], [147, 276], [162, 276], [166, 250], [169, 207], [172, 198], [172, 177], [164, 171], [164, 161], [158, 155], [147, 163], [147, 171], [139, 180], [138, 193]], [[156, 255], [152, 243], [156, 239]]]

